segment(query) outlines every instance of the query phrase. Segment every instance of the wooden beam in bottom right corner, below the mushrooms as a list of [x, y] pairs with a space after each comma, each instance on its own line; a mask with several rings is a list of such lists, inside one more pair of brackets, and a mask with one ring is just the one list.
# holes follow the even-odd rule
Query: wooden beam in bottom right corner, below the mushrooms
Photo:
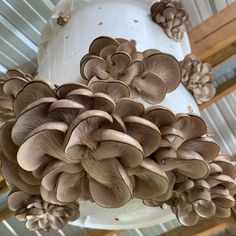
[[189, 236], [189, 235], [209, 236], [235, 223], [236, 221], [232, 216], [227, 219], [213, 218], [210, 220], [199, 221], [195, 226], [191, 227], [180, 226], [174, 230], [162, 234], [162, 236]]

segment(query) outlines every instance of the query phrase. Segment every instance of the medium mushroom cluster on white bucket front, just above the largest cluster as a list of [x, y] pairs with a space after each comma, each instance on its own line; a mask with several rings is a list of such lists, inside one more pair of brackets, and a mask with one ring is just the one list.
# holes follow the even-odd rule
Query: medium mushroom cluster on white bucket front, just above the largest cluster
[[149, 103], [160, 103], [181, 80], [178, 62], [156, 49], [138, 52], [135, 41], [99, 37], [81, 60], [81, 75], [86, 80], [118, 80]]

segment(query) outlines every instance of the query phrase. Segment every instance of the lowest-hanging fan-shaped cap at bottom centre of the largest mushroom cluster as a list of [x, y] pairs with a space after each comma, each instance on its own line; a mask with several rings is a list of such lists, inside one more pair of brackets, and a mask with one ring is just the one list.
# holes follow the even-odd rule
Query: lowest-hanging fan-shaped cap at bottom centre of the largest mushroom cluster
[[117, 160], [97, 161], [85, 158], [81, 163], [90, 176], [90, 193], [98, 205], [116, 208], [130, 201], [133, 192], [132, 183]]

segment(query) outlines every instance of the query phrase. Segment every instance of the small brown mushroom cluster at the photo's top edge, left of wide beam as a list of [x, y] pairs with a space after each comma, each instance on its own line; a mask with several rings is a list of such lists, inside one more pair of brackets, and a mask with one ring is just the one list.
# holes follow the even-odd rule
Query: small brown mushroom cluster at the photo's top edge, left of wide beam
[[154, 3], [151, 7], [151, 16], [169, 38], [177, 42], [183, 39], [189, 16], [178, 0], [161, 0]]

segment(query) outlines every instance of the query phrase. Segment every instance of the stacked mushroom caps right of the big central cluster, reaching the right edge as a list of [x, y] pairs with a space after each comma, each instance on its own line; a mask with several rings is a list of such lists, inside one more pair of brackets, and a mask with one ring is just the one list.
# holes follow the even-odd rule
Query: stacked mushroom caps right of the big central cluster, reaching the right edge
[[161, 125], [161, 145], [151, 158], [167, 173], [170, 184], [166, 194], [144, 203], [169, 204], [180, 223], [188, 226], [202, 218], [229, 216], [234, 206], [235, 163], [218, 156], [219, 147], [206, 136], [203, 120], [194, 114], [174, 116], [160, 107], [149, 109], [145, 118]]

